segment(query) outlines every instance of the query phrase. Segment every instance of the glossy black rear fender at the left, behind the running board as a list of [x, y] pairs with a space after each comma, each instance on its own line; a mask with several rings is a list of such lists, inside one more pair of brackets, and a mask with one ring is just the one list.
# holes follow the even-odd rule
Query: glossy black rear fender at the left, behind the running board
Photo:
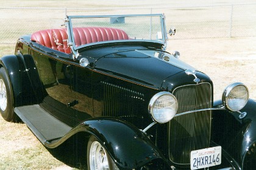
[[0, 64], [9, 75], [14, 107], [36, 104], [43, 98], [41, 81], [31, 55], [3, 56]]

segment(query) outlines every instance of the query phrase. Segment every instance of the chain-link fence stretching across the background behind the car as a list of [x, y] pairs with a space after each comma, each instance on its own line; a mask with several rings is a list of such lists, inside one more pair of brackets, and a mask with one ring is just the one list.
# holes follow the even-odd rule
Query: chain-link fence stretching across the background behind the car
[[256, 4], [179, 8], [0, 8], [0, 56], [14, 53], [16, 40], [37, 30], [60, 27], [65, 15], [164, 13], [174, 39], [256, 36]]

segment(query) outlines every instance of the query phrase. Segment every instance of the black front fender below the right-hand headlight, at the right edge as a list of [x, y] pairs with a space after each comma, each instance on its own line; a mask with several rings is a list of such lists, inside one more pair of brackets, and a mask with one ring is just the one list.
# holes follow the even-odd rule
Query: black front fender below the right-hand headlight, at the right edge
[[[220, 104], [221, 101], [215, 102], [215, 106]], [[247, 152], [256, 143], [256, 101], [249, 100], [241, 112], [247, 114], [243, 119], [238, 117], [238, 112], [213, 111], [212, 140], [243, 168]]]

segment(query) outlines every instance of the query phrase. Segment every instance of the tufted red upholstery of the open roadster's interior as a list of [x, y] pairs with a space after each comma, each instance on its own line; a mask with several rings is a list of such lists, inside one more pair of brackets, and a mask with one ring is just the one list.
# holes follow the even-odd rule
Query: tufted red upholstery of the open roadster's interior
[[[73, 29], [73, 33], [76, 46], [91, 42], [129, 39], [123, 30], [107, 27], [77, 27]], [[67, 42], [63, 41], [65, 39], [68, 39], [66, 29], [40, 30], [31, 35], [31, 41], [60, 52], [71, 53]]]

